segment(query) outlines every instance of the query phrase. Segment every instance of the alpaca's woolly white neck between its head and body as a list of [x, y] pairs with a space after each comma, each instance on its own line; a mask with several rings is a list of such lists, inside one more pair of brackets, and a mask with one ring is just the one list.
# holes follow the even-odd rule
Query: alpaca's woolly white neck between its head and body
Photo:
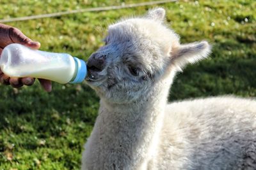
[[113, 162], [120, 169], [145, 169], [156, 152], [168, 89], [161, 83], [147, 96], [129, 104], [100, 101], [99, 117], [90, 137], [97, 145], [91, 141], [88, 144], [91, 143], [88, 148], [93, 148], [98, 165]]

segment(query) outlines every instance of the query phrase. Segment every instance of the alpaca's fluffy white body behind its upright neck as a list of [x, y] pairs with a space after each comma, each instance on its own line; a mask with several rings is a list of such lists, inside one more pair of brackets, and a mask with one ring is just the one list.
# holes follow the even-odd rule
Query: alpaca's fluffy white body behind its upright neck
[[168, 104], [152, 169], [255, 169], [255, 108], [236, 97]]

